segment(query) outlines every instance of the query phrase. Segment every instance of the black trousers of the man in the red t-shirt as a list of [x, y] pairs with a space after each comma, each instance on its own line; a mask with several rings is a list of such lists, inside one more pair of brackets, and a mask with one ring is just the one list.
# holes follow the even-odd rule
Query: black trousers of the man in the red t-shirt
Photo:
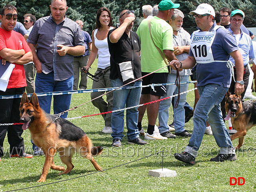
[[[25, 87], [10, 88], [5, 92], [0, 91], [0, 95], [23, 94]], [[20, 98], [0, 99], [0, 123], [18, 123], [20, 122]], [[22, 125], [4, 125], [0, 126], [0, 157], [4, 156], [4, 138], [7, 133], [8, 142], [10, 144], [10, 154], [22, 154], [25, 151], [24, 141], [21, 137], [23, 130]]]

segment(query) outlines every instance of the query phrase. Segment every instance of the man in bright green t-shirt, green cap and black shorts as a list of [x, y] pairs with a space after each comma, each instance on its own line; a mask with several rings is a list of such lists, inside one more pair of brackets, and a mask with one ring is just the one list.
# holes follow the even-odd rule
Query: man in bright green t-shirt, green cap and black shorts
[[[171, 0], [162, 0], [158, 5], [158, 14], [153, 18], [147, 18], [142, 20], [140, 26], [138, 27], [137, 34], [141, 40], [141, 71], [142, 76], [149, 74], [155, 70], [158, 70], [166, 66], [162, 56], [158, 52], [156, 46], [160, 48], [167, 60], [171, 61], [176, 59], [173, 51], [172, 44], [172, 27], [166, 22], [170, 20], [174, 11], [174, 8], [178, 8], [180, 4], [174, 4]], [[150, 20], [151, 34], [149, 32]], [[156, 46], [155, 46], [155, 44]], [[148, 84], [164, 84], [167, 82], [168, 68], [163, 68], [156, 73], [148, 75], [143, 78], [142, 85]], [[160, 99], [161, 96], [166, 96], [166, 86], [156, 86], [156, 87], [145, 87], [142, 88], [142, 95], [140, 97], [140, 104], [151, 102]], [[158, 115], [159, 102], [154, 102], [150, 104], [147, 108], [148, 114], [148, 131], [145, 134], [141, 122], [144, 116], [146, 105], [138, 108], [139, 118], [138, 118], [138, 129], [141, 134], [145, 134], [146, 140], [156, 140], [156, 139], [167, 139], [166, 136], [161, 136], [159, 132], [154, 130], [156, 124], [156, 118]], [[173, 136], [169, 134], [169, 136]]]

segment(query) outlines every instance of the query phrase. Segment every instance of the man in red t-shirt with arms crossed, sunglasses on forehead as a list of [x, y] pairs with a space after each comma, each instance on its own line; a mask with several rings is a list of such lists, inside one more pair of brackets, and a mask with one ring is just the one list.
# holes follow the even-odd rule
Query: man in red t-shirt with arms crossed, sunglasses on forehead
[[[15, 64], [6, 91], [0, 91], [0, 124], [17, 123], [20, 120], [20, 99], [2, 99], [4, 95], [23, 94], [25, 92], [26, 78], [24, 64], [33, 60], [32, 52], [24, 37], [13, 31], [17, 22], [18, 11], [13, 5], [6, 5], [1, 10], [0, 20], [0, 59], [5, 65], [6, 61]], [[24, 141], [21, 137], [22, 125], [0, 126], [0, 160], [4, 156], [3, 143], [8, 131], [10, 144], [10, 157], [32, 158], [26, 154]]]

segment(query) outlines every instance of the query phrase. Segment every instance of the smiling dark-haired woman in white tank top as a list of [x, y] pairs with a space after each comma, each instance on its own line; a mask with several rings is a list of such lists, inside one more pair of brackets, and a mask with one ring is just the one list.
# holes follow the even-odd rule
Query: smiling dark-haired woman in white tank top
[[[92, 50], [90, 52], [87, 66], [84, 66], [86, 70], [89, 70], [90, 66], [98, 55], [98, 68], [95, 72], [97, 77], [92, 82], [92, 89], [109, 88], [111, 87], [110, 81], [110, 53], [108, 50], [108, 31], [112, 29], [112, 16], [110, 10], [106, 7], [101, 7], [97, 11], [96, 15], [96, 29], [92, 32]], [[92, 92], [91, 98], [94, 99], [104, 92]], [[92, 104], [96, 106], [100, 112], [112, 111], [113, 93], [106, 94], [107, 102], [102, 97], [93, 100]], [[103, 114], [102, 117], [105, 121], [105, 126], [102, 133], [112, 133], [111, 128], [111, 113]]]

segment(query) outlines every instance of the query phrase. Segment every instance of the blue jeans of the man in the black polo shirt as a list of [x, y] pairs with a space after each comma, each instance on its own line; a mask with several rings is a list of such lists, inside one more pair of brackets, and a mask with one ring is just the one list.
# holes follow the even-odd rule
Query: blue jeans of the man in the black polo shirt
[[[112, 87], [120, 87], [124, 85], [119, 78], [111, 80], [111, 83]], [[141, 81], [136, 81], [134, 83], [134, 86], [141, 85]], [[140, 94], [141, 88], [115, 90], [113, 92], [113, 110], [136, 106], [140, 104]], [[127, 138], [129, 141], [139, 137], [139, 131], [137, 127], [138, 115], [138, 107], [126, 110], [126, 127], [128, 130]], [[111, 127], [113, 131], [113, 133], [111, 134], [112, 138], [118, 138], [122, 140], [122, 138], [124, 137], [124, 110], [112, 113]]]

